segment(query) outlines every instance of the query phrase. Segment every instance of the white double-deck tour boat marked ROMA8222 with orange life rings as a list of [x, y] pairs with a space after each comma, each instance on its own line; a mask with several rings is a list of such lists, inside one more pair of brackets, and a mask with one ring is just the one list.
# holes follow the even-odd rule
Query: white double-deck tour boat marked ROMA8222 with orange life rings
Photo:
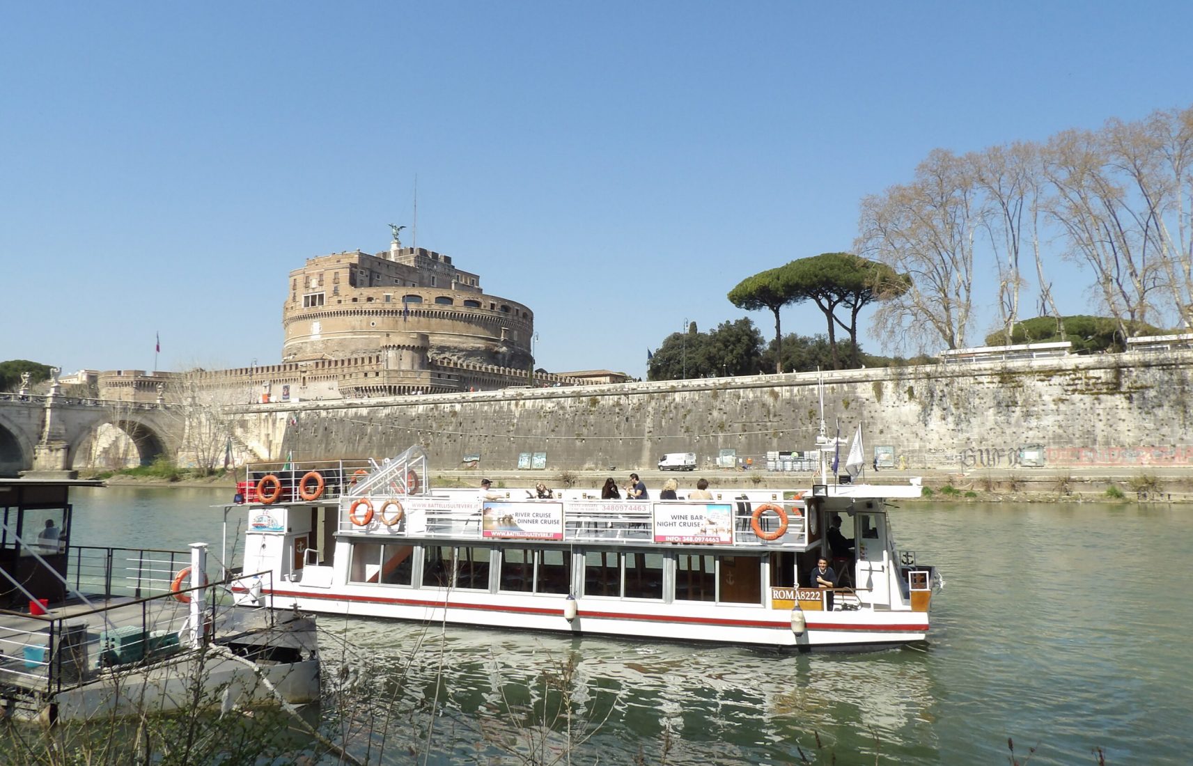
[[[888, 504], [919, 486], [533, 494], [432, 492], [414, 446], [338, 495], [249, 505], [245, 570], [268, 570], [279, 606], [313, 612], [792, 649], [927, 636], [935, 572], [896, 546]], [[836, 517], [848, 556], [829, 549]], [[809, 582], [821, 556], [840, 587]]]

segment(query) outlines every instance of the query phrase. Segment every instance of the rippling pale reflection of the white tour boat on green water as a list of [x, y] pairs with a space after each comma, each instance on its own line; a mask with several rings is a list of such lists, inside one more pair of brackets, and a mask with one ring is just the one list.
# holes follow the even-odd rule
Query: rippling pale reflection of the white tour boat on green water
[[[481, 753], [513, 758], [536, 743], [550, 749], [570, 741], [575, 762], [630, 762], [639, 754], [657, 761], [666, 749], [676, 764], [786, 764], [799, 748], [816, 748], [815, 733], [842, 762], [858, 754], [872, 762], [876, 747], [914, 760], [931, 760], [934, 749], [931, 663], [922, 651], [787, 655], [321, 619], [332, 634], [351, 636], [345, 663], [359, 665], [356, 655], [365, 651], [376, 666], [373, 719], [382, 708], [395, 710], [378, 699], [401, 700], [407, 719], [432, 705], [440, 711], [431, 747], [439, 762], [475, 762]], [[390, 733], [389, 741], [396, 752], [420, 750], [427, 725]], [[472, 746], [459, 753], [444, 736]]]

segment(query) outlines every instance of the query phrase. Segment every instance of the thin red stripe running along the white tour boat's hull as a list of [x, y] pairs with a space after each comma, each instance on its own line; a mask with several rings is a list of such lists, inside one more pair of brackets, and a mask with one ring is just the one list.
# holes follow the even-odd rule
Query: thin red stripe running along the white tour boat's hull
[[[236, 588], [237, 591], [241, 588]], [[421, 606], [425, 609], [459, 609], [476, 610], [482, 612], [508, 612], [513, 614], [562, 614], [560, 609], [543, 606], [496, 606], [493, 604], [463, 604], [446, 601], [428, 601], [421, 599], [395, 599], [381, 595], [346, 595], [346, 594], [322, 594], [296, 591], [265, 591], [266, 594], [279, 597], [293, 597], [305, 599], [317, 599], [321, 601], [348, 601], [359, 604], [391, 604], [395, 606]], [[681, 617], [665, 614], [631, 614], [623, 612], [595, 612], [592, 610], [580, 610], [580, 617], [594, 619], [625, 619], [647, 623], [679, 623], [687, 625], [721, 625], [725, 628], [773, 628], [791, 630], [790, 620], [766, 620], [766, 619], [724, 619], [718, 617]], [[809, 630], [840, 630], [840, 631], [867, 631], [867, 632], [922, 632], [928, 630], [926, 623], [897, 624], [897, 625], [861, 625], [839, 623], [808, 623]]]

